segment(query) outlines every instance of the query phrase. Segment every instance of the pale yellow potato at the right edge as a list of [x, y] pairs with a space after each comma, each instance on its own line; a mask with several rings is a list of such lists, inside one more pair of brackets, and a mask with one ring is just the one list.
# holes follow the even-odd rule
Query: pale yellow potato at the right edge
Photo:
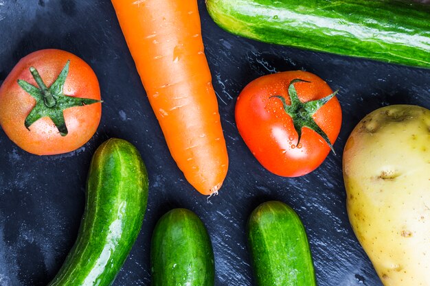
[[348, 216], [386, 286], [430, 285], [430, 110], [385, 106], [343, 152]]

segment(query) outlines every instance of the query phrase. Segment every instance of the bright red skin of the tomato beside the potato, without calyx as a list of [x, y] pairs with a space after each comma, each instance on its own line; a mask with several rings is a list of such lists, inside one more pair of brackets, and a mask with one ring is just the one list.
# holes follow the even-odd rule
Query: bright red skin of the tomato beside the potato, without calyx
[[[242, 139], [257, 160], [278, 176], [303, 176], [316, 169], [330, 152], [328, 144], [313, 130], [302, 129], [298, 135], [293, 120], [283, 109], [281, 95], [291, 104], [288, 84], [291, 80], [308, 82], [294, 84], [301, 102], [309, 102], [332, 93], [332, 89], [317, 75], [306, 71], [285, 71], [250, 82], [238, 96], [236, 103], [236, 125]], [[313, 115], [317, 125], [334, 143], [341, 129], [341, 106], [336, 97], [330, 99]]]

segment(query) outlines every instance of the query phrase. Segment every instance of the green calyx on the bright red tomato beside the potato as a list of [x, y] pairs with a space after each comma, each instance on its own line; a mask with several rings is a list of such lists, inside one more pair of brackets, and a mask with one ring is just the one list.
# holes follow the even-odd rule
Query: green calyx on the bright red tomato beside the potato
[[[313, 120], [313, 115], [321, 106], [326, 104], [332, 97], [334, 97], [337, 94], [337, 91], [332, 93], [331, 95], [328, 95], [326, 97], [323, 97], [321, 99], [313, 100], [311, 102], [301, 102], [299, 97], [297, 96], [297, 91], [295, 90], [294, 84], [296, 82], [308, 82], [306, 80], [300, 80], [295, 79], [291, 80], [290, 84], [288, 84], [288, 95], [291, 99], [291, 105], [287, 105], [285, 98], [281, 95], [273, 95], [271, 97], [279, 98], [284, 105], [284, 111], [286, 114], [290, 115], [291, 119], [293, 119], [293, 125], [294, 129], [297, 132], [297, 135], [299, 136], [299, 139], [297, 140], [297, 145], [300, 142], [300, 138], [302, 137], [302, 128], [307, 127], [310, 130], [313, 130], [321, 136], [324, 141], [330, 146], [330, 149], [333, 153], [336, 154], [335, 149], [333, 149], [332, 143], [330, 143], [330, 139], [328, 139], [327, 134], [319, 128], [318, 124]], [[271, 98], [270, 97], [270, 98]]]

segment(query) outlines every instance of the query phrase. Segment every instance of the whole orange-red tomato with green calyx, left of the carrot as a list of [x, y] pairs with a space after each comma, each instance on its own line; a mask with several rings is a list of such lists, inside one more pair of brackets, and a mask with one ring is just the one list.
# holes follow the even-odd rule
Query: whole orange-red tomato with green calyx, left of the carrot
[[97, 130], [101, 114], [95, 73], [67, 51], [30, 53], [0, 87], [1, 128], [16, 145], [33, 154], [78, 149]]

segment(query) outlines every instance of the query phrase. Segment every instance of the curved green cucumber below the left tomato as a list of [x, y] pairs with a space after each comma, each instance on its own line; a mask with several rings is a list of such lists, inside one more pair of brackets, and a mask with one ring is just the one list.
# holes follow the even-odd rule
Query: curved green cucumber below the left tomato
[[148, 175], [137, 149], [109, 139], [96, 150], [78, 238], [48, 286], [107, 286], [124, 264], [148, 200]]

